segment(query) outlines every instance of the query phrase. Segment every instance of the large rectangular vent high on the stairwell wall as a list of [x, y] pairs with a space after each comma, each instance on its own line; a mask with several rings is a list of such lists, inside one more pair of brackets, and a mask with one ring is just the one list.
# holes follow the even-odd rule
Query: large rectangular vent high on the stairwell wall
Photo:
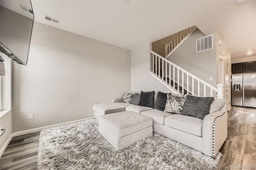
[[213, 40], [212, 35], [197, 39], [196, 40], [196, 52], [212, 49], [213, 48], [212, 40]]

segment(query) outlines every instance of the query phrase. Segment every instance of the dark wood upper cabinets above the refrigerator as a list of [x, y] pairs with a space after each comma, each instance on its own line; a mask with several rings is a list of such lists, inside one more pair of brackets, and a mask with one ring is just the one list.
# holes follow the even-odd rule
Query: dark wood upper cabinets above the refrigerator
[[232, 74], [256, 72], [256, 61], [232, 64]]

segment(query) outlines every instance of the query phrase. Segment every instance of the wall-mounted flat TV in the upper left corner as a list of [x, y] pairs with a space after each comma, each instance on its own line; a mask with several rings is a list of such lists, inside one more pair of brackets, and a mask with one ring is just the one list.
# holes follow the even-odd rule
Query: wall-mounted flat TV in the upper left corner
[[27, 65], [34, 22], [30, 0], [0, 0], [0, 51]]

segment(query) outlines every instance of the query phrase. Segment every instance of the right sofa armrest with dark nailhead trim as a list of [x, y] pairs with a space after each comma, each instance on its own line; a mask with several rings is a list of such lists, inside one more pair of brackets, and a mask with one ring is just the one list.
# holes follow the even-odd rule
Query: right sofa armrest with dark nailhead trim
[[217, 111], [204, 117], [202, 127], [203, 153], [215, 157], [228, 136], [227, 112]]

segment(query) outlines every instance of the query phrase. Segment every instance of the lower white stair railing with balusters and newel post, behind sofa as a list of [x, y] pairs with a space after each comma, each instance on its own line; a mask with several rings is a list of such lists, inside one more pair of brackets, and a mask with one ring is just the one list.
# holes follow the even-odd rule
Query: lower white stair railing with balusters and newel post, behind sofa
[[149, 73], [166, 85], [173, 93], [223, 98], [222, 84], [218, 84], [216, 88], [154, 51], [150, 51], [150, 55]]

